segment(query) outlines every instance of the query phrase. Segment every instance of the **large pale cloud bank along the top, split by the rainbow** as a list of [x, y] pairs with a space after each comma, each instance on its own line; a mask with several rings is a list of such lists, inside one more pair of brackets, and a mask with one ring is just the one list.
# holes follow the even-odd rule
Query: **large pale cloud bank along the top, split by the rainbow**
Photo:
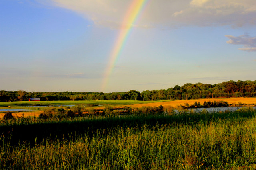
[[[50, 0], [41, 0], [46, 3]], [[131, 1], [51, 0], [82, 14], [95, 25], [120, 28]], [[134, 27], [256, 25], [254, 0], [149, 0]]]

